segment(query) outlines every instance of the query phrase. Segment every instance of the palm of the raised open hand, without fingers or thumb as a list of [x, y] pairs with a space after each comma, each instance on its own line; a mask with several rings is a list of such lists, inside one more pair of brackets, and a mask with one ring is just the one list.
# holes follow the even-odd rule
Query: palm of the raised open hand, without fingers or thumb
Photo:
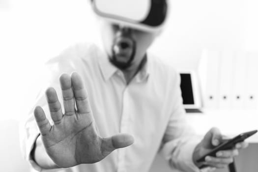
[[[93, 128], [92, 119], [87, 120], [86, 115], [82, 115], [81, 120], [77, 120], [74, 116], [64, 115], [63, 121], [42, 137], [50, 157], [61, 167], [94, 163], [104, 158], [101, 154], [102, 138]], [[61, 161], [57, 162], [58, 159]]]

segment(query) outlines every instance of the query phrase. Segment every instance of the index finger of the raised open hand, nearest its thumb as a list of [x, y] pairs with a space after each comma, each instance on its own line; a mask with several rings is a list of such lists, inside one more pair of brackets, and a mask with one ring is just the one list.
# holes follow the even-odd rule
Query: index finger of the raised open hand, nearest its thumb
[[79, 114], [90, 114], [91, 108], [88, 101], [88, 95], [86, 88], [83, 85], [82, 78], [76, 72], [72, 73], [71, 76], [74, 98], [76, 101], [76, 106]]

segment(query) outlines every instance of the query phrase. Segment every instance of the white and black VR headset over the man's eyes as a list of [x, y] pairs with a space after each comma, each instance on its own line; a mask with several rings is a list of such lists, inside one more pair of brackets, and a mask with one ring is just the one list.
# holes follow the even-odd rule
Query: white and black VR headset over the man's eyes
[[95, 13], [111, 22], [159, 31], [168, 16], [167, 0], [92, 0]]

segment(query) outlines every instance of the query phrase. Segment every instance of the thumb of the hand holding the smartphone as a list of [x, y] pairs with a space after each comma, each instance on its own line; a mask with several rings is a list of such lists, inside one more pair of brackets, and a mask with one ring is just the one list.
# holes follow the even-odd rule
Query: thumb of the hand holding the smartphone
[[206, 148], [212, 148], [220, 144], [222, 135], [218, 128], [211, 128], [204, 136], [202, 143]]

